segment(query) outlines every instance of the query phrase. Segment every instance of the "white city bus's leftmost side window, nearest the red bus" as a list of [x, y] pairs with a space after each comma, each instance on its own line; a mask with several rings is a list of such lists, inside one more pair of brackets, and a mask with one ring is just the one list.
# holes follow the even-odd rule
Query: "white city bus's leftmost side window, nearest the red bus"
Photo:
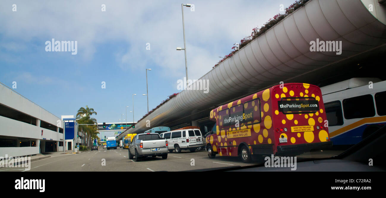
[[339, 100], [325, 103], [324, 108], [329, 127], [343, 125], [342, 105]]

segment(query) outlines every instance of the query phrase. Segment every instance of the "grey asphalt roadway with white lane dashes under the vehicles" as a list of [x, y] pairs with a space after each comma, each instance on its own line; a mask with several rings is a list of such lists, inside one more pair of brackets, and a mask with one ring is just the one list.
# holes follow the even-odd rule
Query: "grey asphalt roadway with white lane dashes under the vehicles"
[[[324, 153], [331, 157], [334, 153]], [[315, 157], [310, 153], [305, 157]], [[321, 157], [320, 154], [317, 155]], [[299, 156], [300, 157], [300, 156]], [[194, 160], [194, 166], [193, 165]], [[129, 159], [128, 150], [102, 149], [98, 151], [83, 151], [80, 154], [63, 154], [31, 162], [29, 171], [189, 171], [207, 168], [229, 168], [232, 166], [251, 166], [264, 164], [264, 161], [252, 161], [250, 164], [241, 162], [239, 157], [224, 157], [216, 155], [210, 159], [205, 150], [181, 153], [168, 153], [167, 159], [162, 157], [147, 157], [140, 162]], [[24, 168], [3, 168], [0, 171], [25, 171]]]

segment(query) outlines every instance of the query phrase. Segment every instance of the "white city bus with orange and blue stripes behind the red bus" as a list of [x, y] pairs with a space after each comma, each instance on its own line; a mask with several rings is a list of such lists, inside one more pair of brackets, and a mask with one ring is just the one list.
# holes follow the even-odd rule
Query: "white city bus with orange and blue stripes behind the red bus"
[[334, 145], [357, 144], [386, 124], [386, 81], [351, 78], [320, 89]]

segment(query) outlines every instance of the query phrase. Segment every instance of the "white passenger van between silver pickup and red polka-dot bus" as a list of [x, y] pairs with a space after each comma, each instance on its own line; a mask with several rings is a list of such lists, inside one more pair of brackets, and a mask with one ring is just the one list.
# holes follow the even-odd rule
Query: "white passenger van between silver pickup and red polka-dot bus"
[[183, 129], [164, 132], [161, 137], [169, 142], [169, 152], [180, 153], [181, 150], [195, 152], [198, 147], [203, 147], [203, 137], [200, 129]]

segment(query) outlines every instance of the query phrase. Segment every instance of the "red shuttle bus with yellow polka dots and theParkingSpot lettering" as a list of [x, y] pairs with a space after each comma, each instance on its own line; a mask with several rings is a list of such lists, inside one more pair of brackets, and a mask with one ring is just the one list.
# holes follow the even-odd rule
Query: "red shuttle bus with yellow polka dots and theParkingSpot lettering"
[[315, 85], [288, 83], [222, 105], [210, 112], [216, 122], [207, 136], [210, 158], [251, 155], [296, 156], [332, 146], [322, 92]]

